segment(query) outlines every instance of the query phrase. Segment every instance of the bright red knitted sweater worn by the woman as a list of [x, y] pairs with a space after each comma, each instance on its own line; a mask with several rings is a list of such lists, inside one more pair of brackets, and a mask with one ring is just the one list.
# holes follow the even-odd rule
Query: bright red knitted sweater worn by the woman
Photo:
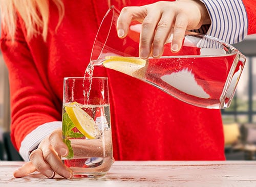
[[[108, 10], [107, 1], [63, 2], [66, 16], [57, 33], [57, 8], [50, 4], [47, 42], [41, 37], [28, 41], [22, 21], [14, 46], [2, 35], [10, 72], [11, 138], [17, 149], [37, 126], [61, 121], [63, 77], [83, 76], [100, 21]], [[153, 2], [131, 0], [128, 6]], [[116, 1], [112, 4], [123, 7]], [[186, 104], [113, 70], [108, 70], [108, 76], [116, 160], [225, 159], [220, 110]]]

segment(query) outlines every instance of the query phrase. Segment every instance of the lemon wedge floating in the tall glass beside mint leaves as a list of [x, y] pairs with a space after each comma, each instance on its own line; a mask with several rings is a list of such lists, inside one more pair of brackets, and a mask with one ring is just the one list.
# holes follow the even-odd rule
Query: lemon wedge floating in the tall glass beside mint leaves
[[80, 108], [79, 103], [72, 102], [65, 105], [65, 110], [76, 128], [84, 136], [89, 139], [95, 139], [99, 136], [100, 131], [94, 119]]

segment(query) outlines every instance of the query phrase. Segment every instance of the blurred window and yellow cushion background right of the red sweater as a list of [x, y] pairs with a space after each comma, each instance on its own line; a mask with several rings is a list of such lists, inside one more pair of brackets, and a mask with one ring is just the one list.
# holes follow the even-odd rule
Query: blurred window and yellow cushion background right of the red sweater
[[256, 159], [256, 35], [234, 44], [247, 58], [236, 95], [222, 110], [225, 153], [229, 160]]

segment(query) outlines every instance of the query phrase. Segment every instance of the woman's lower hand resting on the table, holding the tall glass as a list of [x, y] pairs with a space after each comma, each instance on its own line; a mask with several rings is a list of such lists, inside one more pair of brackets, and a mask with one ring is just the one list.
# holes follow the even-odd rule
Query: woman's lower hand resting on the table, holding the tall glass
[[73, 178], [72, 170], [62, 163], [59, 156], [67, 154], [68, 147], [62, 141], [61, 129], [55, 130], [31, 152], [30, 162], [16, 170], [13, 176], [19, 178], [39, 171], [48, 178], [53, 178], [55, 173], [67, 179]]

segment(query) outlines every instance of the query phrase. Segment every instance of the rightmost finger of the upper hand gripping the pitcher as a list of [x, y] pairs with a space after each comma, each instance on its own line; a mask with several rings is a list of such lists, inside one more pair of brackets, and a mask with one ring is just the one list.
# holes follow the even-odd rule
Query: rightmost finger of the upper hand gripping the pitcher
[[174, 25], [174, 33], [173, 33], [173, 41], [172, 41], [172, 51], [178, 52], [182, 46], [182, 42], [185, 36], [185, 32], [187, 29], [188, 17], [186, 14], [179, 13], [176, 16], [175, 25]]

